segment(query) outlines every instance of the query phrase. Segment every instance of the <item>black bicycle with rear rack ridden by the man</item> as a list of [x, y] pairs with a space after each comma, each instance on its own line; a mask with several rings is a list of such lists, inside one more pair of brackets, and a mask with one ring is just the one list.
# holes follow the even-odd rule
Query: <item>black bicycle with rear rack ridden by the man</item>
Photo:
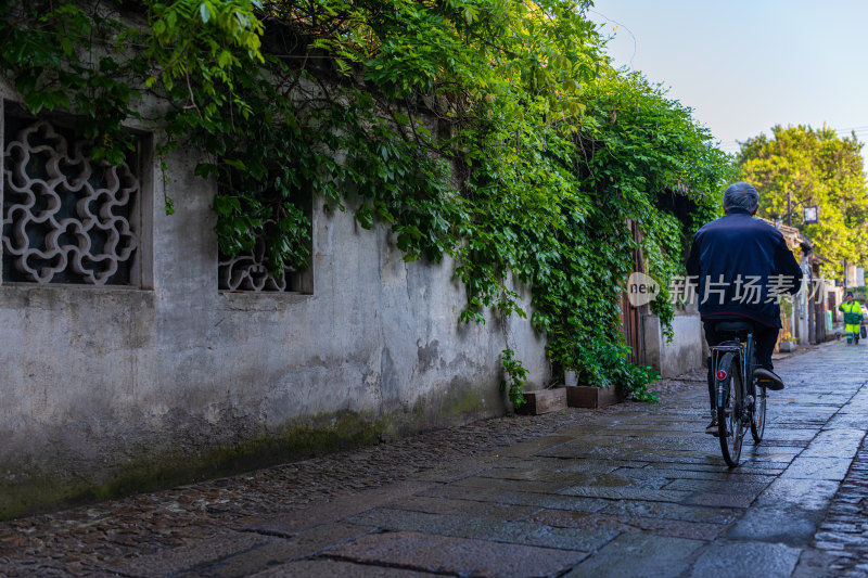
[[715, 330], [729, 337], [710, 348], [717, 389], [717, 436], [724, 461], [736, 467], [749, 425], [754, 444], [763, 440], [766, 387], [753, 375], [756, 368], [753, 325], [745, 321], [720, 321]]

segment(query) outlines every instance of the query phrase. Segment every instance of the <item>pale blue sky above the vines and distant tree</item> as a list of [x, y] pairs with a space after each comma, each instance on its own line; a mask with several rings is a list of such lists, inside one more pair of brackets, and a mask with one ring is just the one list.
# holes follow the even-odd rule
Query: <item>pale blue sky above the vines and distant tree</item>
[[868, 1], [597, 0], [588, 15], [616, 65], [669, 87], [727, 152], [776, 124], [868, 142]]

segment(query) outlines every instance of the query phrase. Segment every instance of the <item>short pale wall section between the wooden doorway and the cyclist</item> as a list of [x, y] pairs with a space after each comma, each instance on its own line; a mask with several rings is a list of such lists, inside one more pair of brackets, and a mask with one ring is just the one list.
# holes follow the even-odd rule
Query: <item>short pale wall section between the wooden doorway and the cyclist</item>
[[662, 377], [675, 377], [703, 367], [702, 320], [699, 313], [678, 313], [673, 319], [673, 341], [663, 335], [660, 318], [643, 317], [646, 363]]

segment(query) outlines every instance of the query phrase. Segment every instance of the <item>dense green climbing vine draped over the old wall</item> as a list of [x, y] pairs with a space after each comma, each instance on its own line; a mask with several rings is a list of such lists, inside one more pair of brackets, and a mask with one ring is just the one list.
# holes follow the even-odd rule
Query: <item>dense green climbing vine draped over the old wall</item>
[[[132, 144], [124, 123], [166, 103], [158, 152], [206, 154], [224, 254], [270, 223], [271, 268], [303, 267], [297, 200], [317, 195], [386, 223], [408, 261], [451, 257], [465, 322], [525, 316], [515, 287], [531, 286], [557, 367], [650, 399], [620, 332], [631, 252], [667, 284], [692, 224], [656, 196], [713, 214], [731, 164], [688, 108], [611, 67], [588, 4], [0, 0], [0, 69], [31, 113], [73, 113], [113, 163]], [[666, 299], [654, 307], [671, 321]]]

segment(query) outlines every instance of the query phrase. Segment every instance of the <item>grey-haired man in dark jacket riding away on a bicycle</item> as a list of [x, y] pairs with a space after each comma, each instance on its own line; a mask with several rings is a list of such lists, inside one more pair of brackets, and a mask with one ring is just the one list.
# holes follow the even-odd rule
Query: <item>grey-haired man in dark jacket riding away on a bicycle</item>
[[[771, 352], [780, 331], [780, 297], [802, 286], [802, 269], [773, 226], [754, 219], [760, 194], [751, 184], [737, 182], [724, 192], [726, 215], [702, 227], [693, 236], [687, 258], [688, 279], [698, 285], [699, 312], [709, 346], [724, 341], [720, 321], [748, 321], [753, 327], [757, 369], [754, 376], [783, 389], [771, 372]], [[706, 434], [717, 434], [714, 370], [709, 360], [709, 398], [712, 423]]]

